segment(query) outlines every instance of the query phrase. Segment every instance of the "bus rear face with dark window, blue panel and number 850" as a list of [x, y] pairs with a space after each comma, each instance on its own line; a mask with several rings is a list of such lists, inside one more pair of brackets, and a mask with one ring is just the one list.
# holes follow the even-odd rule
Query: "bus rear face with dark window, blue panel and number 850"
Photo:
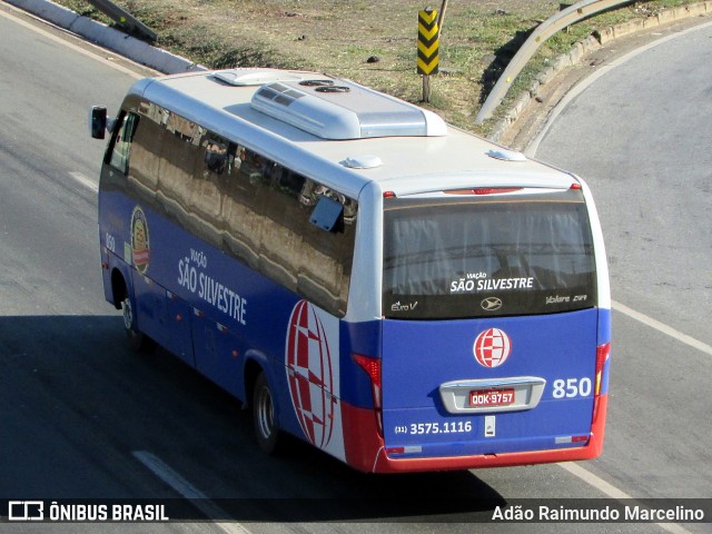
[[386, 454], [586, 445], [599, 309], [582, 192], [387, 199], [384, 233]]

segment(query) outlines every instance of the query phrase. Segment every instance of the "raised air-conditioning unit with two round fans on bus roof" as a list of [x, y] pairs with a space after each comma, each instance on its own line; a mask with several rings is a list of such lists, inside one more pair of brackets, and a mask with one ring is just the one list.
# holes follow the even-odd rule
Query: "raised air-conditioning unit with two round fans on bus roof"
[[439, 116], [348, 80], [267, 83], [255, 92], [251, 107], [323, 139], [447, 134]]

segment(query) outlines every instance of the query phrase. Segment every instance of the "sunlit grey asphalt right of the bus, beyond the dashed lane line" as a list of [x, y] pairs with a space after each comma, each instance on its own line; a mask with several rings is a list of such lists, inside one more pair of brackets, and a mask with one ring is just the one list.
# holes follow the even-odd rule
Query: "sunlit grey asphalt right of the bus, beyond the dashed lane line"
[[710, 497], [712, 26], [651, 43], [576, 92], [536, 156], [589, 181], [606, 236], [614, 367], [593, 471], [635, 496]]

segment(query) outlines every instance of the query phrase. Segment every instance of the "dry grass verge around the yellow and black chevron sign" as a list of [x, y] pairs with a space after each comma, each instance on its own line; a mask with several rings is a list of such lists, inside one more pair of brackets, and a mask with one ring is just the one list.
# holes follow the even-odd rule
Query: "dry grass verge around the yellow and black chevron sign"
[[[82, 0], [57, 0], [80, 14], [110, 21]], [[116, 0], [158, 33], [159, 47], [210, 68], [315, 69], [343, 76], [419, 102], [416, 75], [417, 11], [411, 0]], [[573, 3], [573, 2], [572, 2]], [[596, 29], [655, 16], [692, 0], [651, 0], [606, 12], [550, 39], [513, 83], [514, 96], [540, 69]], [[434, 2], [439, 8], [439, 2]], [[479, 134], [474, 125], [498, 75], [558, 1], [453, 0], [441, 34], [441, 69], [426, 106], [449, 122]], [[368, 61], [377, 57], [378, 61]], [[512, 99], [513, 96], [508, 98]], [[503, 107], [500, 107], [502, 113]], [[506, 109], [506, 105], [504, 106]]]

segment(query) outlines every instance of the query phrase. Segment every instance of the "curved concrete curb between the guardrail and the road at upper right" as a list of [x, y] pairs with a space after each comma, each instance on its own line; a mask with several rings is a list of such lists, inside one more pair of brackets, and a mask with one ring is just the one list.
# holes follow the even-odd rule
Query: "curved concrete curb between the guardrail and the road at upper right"
[[518, 97], [516, 97], [504, 118], [500, 119], [490, 131], [488, 139], [493, 141], [502, 139], [520, 115], [522, 115], [522, 112], [536, 100], [541, 87], [550, 83], [562, 70], [577, 65], [589, 52], [597, 50], [604, 44], [622, 37], [659, 28], [678, 20], [708, 14], [712, 14], [712, 1], [692, 3], [690, 6], [664, 10], [656, 14], [646, 17], [645, 19], [633, 19], [627, 22], [605, 28], [594, 32], [586, 39], [574, 43], [568, 53], [562, 53], [555, 58], [554, 61], [552, 61], [551, 67], [547, 67], [540, 72], [530, 88], [522, 91]]

